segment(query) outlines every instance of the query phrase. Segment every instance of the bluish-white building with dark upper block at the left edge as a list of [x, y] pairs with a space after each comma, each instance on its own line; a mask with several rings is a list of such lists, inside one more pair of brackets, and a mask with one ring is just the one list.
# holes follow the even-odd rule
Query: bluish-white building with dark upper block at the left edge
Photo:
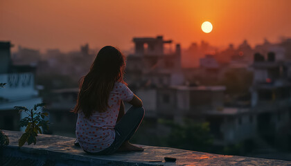
[[0, 88], [0, 128], [19, 130], [19, 120], [26, 113], [18, 113], [13, 107], [31, 109], [42, 98], [35, 89], [35, 67], [12, 65], [11, 46], [10, 42], [0, 42], [0, 83], [6, 83]]

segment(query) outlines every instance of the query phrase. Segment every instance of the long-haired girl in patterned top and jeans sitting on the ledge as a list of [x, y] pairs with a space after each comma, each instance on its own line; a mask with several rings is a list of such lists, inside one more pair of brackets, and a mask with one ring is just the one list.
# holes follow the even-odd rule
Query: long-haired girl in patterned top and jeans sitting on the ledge
[[[123, 81], [125, 56], [112, 46], [103, 47], [80, 80], [74, 113], [78, 113], [75, 144], [88, 154], [143, 151], [129, 140], [143, 120], [141, 100]], [[123, 102], [132, 104], [125, 113]]]

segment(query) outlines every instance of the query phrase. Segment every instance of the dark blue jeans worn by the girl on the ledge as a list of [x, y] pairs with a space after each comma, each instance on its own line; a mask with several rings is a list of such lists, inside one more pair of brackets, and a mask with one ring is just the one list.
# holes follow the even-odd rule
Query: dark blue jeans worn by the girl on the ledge
[[145, 115], [145, 109], [143, 107], [130, 107], [125, 113], [125, 115], [119, 120], [114, 129], [115, 129], [115, 139], [112, 145], [96, 153], [91, 153], [86, 151], [87, 154], [93, 155], [109, 155], [113, 154], [123, 142], [130, 140], [136, 129], [141, 124], [143, 116]]

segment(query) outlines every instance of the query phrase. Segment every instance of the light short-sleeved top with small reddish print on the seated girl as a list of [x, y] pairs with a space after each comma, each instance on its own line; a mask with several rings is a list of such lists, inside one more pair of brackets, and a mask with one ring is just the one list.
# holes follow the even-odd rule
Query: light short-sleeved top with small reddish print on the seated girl
[[103, 113], [95, 111], [89, 119], [85, 118], [82, 111], [78, 113], [76, 137], [82, 149], [94, 153], [112, 145], [121, 100], [129, 102], [133, 96], [134, 94], [125, 84], [115, 82], [108, 100], [111, 108], [107, 108]]

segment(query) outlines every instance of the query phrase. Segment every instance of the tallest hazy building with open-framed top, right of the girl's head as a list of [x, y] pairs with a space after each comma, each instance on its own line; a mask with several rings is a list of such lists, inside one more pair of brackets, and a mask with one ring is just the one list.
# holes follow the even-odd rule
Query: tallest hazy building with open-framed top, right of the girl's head
[[[173, 53], [164, 53], [164, 44], [171, 44], [171, 40], [164, 40], [162, 36], [136, 37], [133, 39], [135, 52], [127, 56], [127, 81], [130, 84], [143, 86], [170, 86], [184, 84], [181, 67], [181, 47], [176, 44]], [[141, 77], [142, 76], [142, 77]]]

